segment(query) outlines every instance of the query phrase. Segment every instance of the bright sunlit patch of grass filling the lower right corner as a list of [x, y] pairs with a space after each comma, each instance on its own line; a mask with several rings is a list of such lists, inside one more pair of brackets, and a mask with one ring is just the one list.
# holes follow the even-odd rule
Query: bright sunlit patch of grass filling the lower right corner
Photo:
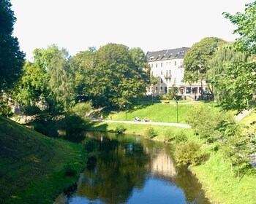
[[255, 204], [255, 170], [247, 170], [246, 174], [238, 179], [230, 171], [229, 162], [222, 161], [218, 152], [211, 156], [203, 165], [191, 168], [199, 178], [206, 196], [212, 203], [221, 204]]

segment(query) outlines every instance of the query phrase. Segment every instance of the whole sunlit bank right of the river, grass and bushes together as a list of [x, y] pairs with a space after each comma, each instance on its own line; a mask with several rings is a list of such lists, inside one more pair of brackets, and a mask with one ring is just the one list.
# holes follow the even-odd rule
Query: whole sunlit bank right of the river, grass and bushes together
[[[127, 120], [135, 116], [159, 118], [159, 107], [174, 113], [176, 106], [154, 104], [144, 109], [127, 111]], [[182, 105], [181, 105], [182, 106]], [[213, 203], [255, 203], [256, 171], [249, 164], [249, 154], [255, 152], [255, 141], [246, 132], [255, 131], [255, 111], [243, 120], [234, 122], [234, 112], [220, 111], [213, 103], [187, 104], [180, 109], [181, 121], [192, 128], [167, 127], [160, 125], [125, 124], [125, 133], [165, 141], [176, 146], [173, 151], [176, 165], [187, 165], [199, 178], [206, 196]], [[184, 114], [184, 112], [186, 114]], [[167, 114], [165, 114], [167, 115]], [[105, 112], [105, 117], [125, 120], [125, 112]], [[176, 114], [169, 116], [173, 121]], [[170, 120], [172, 120], [170, 119]], [[165, 119], [162, 119], [165, 122]], [[97, 122], [90, 130], [115, 131], [119, 123]], [[232, 138], [232, 139], [230, 139]]]

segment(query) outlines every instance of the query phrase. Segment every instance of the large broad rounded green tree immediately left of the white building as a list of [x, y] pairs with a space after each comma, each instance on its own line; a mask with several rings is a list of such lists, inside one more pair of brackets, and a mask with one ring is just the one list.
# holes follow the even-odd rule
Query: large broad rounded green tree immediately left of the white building
[[148, 84], [145, 54], [123, 44], [106, 44], [94, 52], [80, 52], [72, 59], [72, 70], [78, 71], [76, 89], [94, 106], [128, 106], [144, 95]]

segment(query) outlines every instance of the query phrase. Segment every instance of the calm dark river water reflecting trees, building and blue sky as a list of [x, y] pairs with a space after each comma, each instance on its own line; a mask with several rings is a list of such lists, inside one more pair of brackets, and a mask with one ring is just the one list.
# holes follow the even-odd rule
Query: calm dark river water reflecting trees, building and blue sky
[[140, 136], [86, 133], [99, 144], [81, 173], [77, 191], [61, 195], [56, 204], [200, 203], [208, 204], [197, 178], [176, 168], [172, 146]]

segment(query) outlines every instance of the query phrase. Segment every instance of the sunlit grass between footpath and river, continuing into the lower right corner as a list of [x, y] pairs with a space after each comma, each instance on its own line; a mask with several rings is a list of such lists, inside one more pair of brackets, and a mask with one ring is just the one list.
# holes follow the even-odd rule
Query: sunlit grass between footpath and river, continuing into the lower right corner
[[[249, 130], [254, 130], [256, 123], [255, 112], [244, 117], [240, 123], [249, 125]], [[99, 131], [114, 131], [120, 123], [115, 122], [99, 122], [94, 123], [94, 126], [91, 130]], [[138, 134], [144, 136], [144, 131], [147, 126], [146, 123], [121, 123], [127, 130], [126, 133]], [[154, 129], [157, 131], [158, 135], [154, 138], [157, 141], [165, 141], [166, 133], [170, 132], [178, 133], [179, 131], [184, 131], [187, 134], [189, 139], [197, 138], [193, 135], [191, 129], [183, 127], [169, 127], [169, 126], [160, 126], [154, 125]], [[203, 148], [209, 148], [204, 146]], [[230, 172], [230, 163], [222, 159], [220, 152], [213, 153], [212, 150], [211, 157], [207, 162], [197, 166], [191, 166], [189, 169], [195, 176], [199, 179], [200, 183], [203, 186], [203, 189], [206, 191], [206, 197], [211, 200], [212, 203], [220, 204], [239, 204], [239, 203], [249, 203], [255, 204], [256, 195], [255, 195], [255, 183], [256, 183], [256, 172], [253, 168], [247, 168], [241, 178], [237, 178], [236, 175]]]

